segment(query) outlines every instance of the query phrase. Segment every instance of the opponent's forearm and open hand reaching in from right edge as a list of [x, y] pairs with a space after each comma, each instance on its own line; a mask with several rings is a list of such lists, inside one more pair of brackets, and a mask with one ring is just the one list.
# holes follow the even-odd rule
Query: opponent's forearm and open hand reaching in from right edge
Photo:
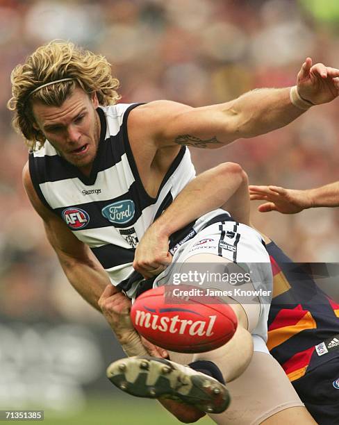
[[249, 194], [253, 201], [266, 201], [258, 206], [261, 213], [279, 211], [283, 214], [295, 214], [306, 208], [339, 206], [338, 181], [308, 190], [250, 185]]

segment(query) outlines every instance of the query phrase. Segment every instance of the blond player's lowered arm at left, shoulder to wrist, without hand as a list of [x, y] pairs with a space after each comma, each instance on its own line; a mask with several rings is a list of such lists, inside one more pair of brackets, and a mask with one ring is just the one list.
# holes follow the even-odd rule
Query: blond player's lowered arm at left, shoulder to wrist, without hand
[[23, 170], [24, 188], [33, 208], [44, 222], [49, 243], [74, 289], [97, 310], [101, 293], [110, 284], [108, 275], [90, 248], [78, 240], [66, 224], [45, 207], [35, 192], [28, 164]]

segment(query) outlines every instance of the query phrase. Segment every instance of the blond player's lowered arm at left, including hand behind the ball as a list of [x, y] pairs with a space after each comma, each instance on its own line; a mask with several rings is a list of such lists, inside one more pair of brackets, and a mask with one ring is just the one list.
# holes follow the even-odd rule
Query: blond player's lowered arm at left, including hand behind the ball
[[143, 338], [140, 340], [129, 319], [131, 300], [110, 283], [108, 274], [89, 247], [75, 238], [65, 223], [42, 204], [33, 188], [28, 165], [24, 167], [23, 181], [28, 198], [44, 221], [47, 238], [69, 282], [81, 297], [104, 313], [124, 351], [129, 355], [148, 353], [151, 356], [167, 356], [166, 351], [158, 351], [153, 344]]

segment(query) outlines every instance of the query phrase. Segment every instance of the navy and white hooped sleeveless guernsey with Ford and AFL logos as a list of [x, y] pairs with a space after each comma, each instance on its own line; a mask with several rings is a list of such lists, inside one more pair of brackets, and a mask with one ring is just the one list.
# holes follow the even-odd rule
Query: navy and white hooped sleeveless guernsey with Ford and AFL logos
[[147, 228], [195, 177], [182, 147], [152, 198], [144, 190], [129, 144], [127, 118], [138, 104], [99, 107], [101, 135], [90, 176], [67, 163], [46, 141], [29, 155], [41, 201], [88, 244], [114, 285], [133, 272], [135, 247]]

